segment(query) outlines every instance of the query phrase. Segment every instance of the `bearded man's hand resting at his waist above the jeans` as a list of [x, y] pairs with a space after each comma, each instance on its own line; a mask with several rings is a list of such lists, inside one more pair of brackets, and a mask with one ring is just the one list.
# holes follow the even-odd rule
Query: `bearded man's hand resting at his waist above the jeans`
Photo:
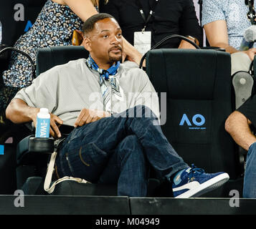
[[75, 121], [74, 127], [81, 127], [87, 123], [95, 122], [103, 117], [110, 117], [110, 113], [98, 109], [83, 108]]

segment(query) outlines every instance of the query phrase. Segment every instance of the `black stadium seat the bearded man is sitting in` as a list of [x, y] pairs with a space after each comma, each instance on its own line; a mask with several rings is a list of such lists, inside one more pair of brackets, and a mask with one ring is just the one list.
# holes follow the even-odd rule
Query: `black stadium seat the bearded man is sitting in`
[[[37, 76], [48, 69], [69, 62], [70, 60], [87, 58], [89, 52], [81, 46], [47, 47], [37, 52]], [[27, 137], [19, 143], [17, 148], [16, 169], [17, 187], [22, 188], [25, 194], [45, 194], [42, 188], [44, 182], [45, 156], [34, 157], [34, 152], [26, 150], [28, 145], [34, 145], [33, 138]], [[39, 143], [40, 144], [40, 143]], [[22, 153], [21, 153], [22, 152]], [[38, 152], [37, 152], [38, 155]], [[34, 160], [34, 163], [32, 162]], [[41, 176], [41, 177], [38, 177]], [[28, 178], [29, 177], [29, 178]], [[28, 179], [27, 179], [28, 178]], [[23, 185], [24, 184], [24, 185]], [[158, 180], [151, 179], [148, 184], [148, 195], [153, 195]], [[55, 187], [53, 195], [116, 195], [116, 185], [78, 184], [74, 181], [61, 182]]]

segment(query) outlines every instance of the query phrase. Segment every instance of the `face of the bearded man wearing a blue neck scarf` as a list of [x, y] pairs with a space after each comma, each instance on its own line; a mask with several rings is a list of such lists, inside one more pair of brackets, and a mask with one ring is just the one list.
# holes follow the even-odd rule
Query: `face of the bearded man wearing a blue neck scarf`
[[123, 53], [123, 36], [115, 19], [103, 19], [95, 23], [93, 31], [83, 41], [97, 64], [110, 64], [120, 61]]

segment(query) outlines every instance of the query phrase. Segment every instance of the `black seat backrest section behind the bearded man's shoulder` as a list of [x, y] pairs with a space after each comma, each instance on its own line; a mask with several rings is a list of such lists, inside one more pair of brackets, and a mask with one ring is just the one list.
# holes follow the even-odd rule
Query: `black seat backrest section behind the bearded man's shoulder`
[[60, 46], [60, 47], [47, 47], [37, 51], [37, 71], [38, 76], [48, 69], [66, 64], [70, 60], [87, 58], [89, 52], [82, 46]]

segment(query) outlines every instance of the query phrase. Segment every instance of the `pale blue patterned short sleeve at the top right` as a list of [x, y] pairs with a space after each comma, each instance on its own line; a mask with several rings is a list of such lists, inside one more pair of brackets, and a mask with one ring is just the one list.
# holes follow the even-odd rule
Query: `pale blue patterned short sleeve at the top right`
[[204, 0], [203, 1], [202, 26], [212, 21], [225, 20], [222, 2], [223, 2], [222, 0]]

